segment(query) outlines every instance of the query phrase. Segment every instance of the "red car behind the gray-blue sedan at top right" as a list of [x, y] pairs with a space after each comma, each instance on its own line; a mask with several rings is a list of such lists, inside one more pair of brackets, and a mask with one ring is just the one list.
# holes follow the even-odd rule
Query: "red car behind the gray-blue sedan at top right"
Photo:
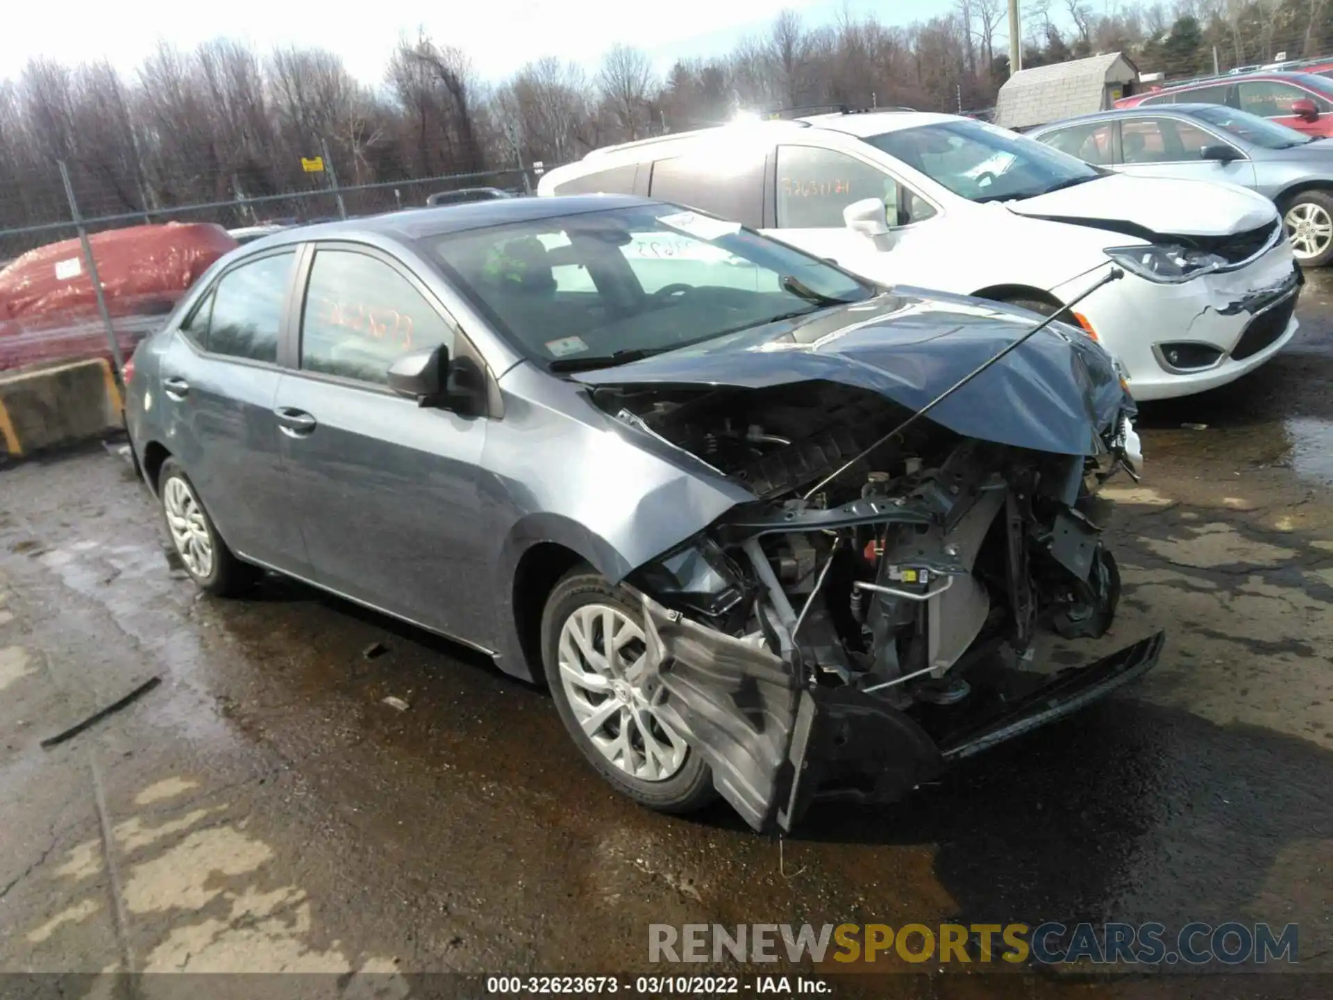
[[1226, 104], [1310, 136], [1333, 136], [1333, 80], [1314, 73], [1242, 73], [1136, 93], [1117, 108], [1153, 104]]

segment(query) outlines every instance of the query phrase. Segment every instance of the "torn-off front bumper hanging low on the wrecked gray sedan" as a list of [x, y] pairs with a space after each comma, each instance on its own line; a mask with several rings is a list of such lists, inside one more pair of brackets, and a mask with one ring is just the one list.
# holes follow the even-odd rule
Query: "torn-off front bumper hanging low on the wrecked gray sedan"
[[1061, 671], [1018, 701], [970, 713], [937, 741], [882, 696], [805, 685], [762, 644], [736, 639], [641, 595], [648, 672], [661, 715], [708, 761], [718, 793], [756, 831], [792, 829], [820, 797], [888, 803], [954, 760], [1061, 719], [1157, 664], [1158, 632]]

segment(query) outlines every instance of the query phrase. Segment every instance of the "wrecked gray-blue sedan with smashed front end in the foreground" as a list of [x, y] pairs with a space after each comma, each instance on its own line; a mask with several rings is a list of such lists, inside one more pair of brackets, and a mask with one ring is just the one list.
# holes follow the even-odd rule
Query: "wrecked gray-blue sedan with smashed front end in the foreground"
[[451, 636], [640, 803], [790, 828], [1157, 661], [1033, 655], [1110, 625], [1097, 489], [1141, 460], [1112, 359], [1040, 323], [676, 205], [505, 199], [233, 251], [128, 427], [205, 591], [276, 571]]

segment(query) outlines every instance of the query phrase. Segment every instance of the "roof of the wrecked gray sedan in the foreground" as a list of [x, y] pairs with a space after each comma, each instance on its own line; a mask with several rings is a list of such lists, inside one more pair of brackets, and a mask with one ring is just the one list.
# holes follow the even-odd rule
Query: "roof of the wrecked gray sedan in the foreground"
[[[264, 240], [265, 247], [305, 240], [336, 240], [359, 233], [375, 233], [391, 239], [421, 240], [492, 225], [531, 223], [564, 215], [584, 215], [612, 208], [659, 204], [653, 199], [633, 195], [568, 195], [564, 197], [509, 197], [488, 201], [465, 201], [437, 208], [409, 208], [403, 212], [344, 219], [285, 229]], [[251, 247], [259, 247], [256, 241]]]

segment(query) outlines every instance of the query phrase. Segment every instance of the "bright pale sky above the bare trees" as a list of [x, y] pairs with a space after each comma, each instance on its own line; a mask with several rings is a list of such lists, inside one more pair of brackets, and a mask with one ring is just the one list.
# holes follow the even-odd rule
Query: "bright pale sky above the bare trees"
[[423, 27], [439, 44], [456, 45], [483, 80], [499, 81], [543, 56], [595, 67], [612, 44], [643, 48], [659, 71], [681, 56], [729, 51], [768, 28], [784, 7], [808, 25], [826, 24], [841, 9], [909, 24], [946, 12], [952, 0], [373, 0], [297, 4], [291, 0], [67, 0], [59, 8], [16, 0], [4, 16], [0, 79], [15, 79], [33, 56], [67, 64], [109, 59], [133, 69], [167, 40], [180, 48], [225, 36], [260, 51], [285, 45], [327, 48], [368, 84], [379, 84], [400, 33]]

